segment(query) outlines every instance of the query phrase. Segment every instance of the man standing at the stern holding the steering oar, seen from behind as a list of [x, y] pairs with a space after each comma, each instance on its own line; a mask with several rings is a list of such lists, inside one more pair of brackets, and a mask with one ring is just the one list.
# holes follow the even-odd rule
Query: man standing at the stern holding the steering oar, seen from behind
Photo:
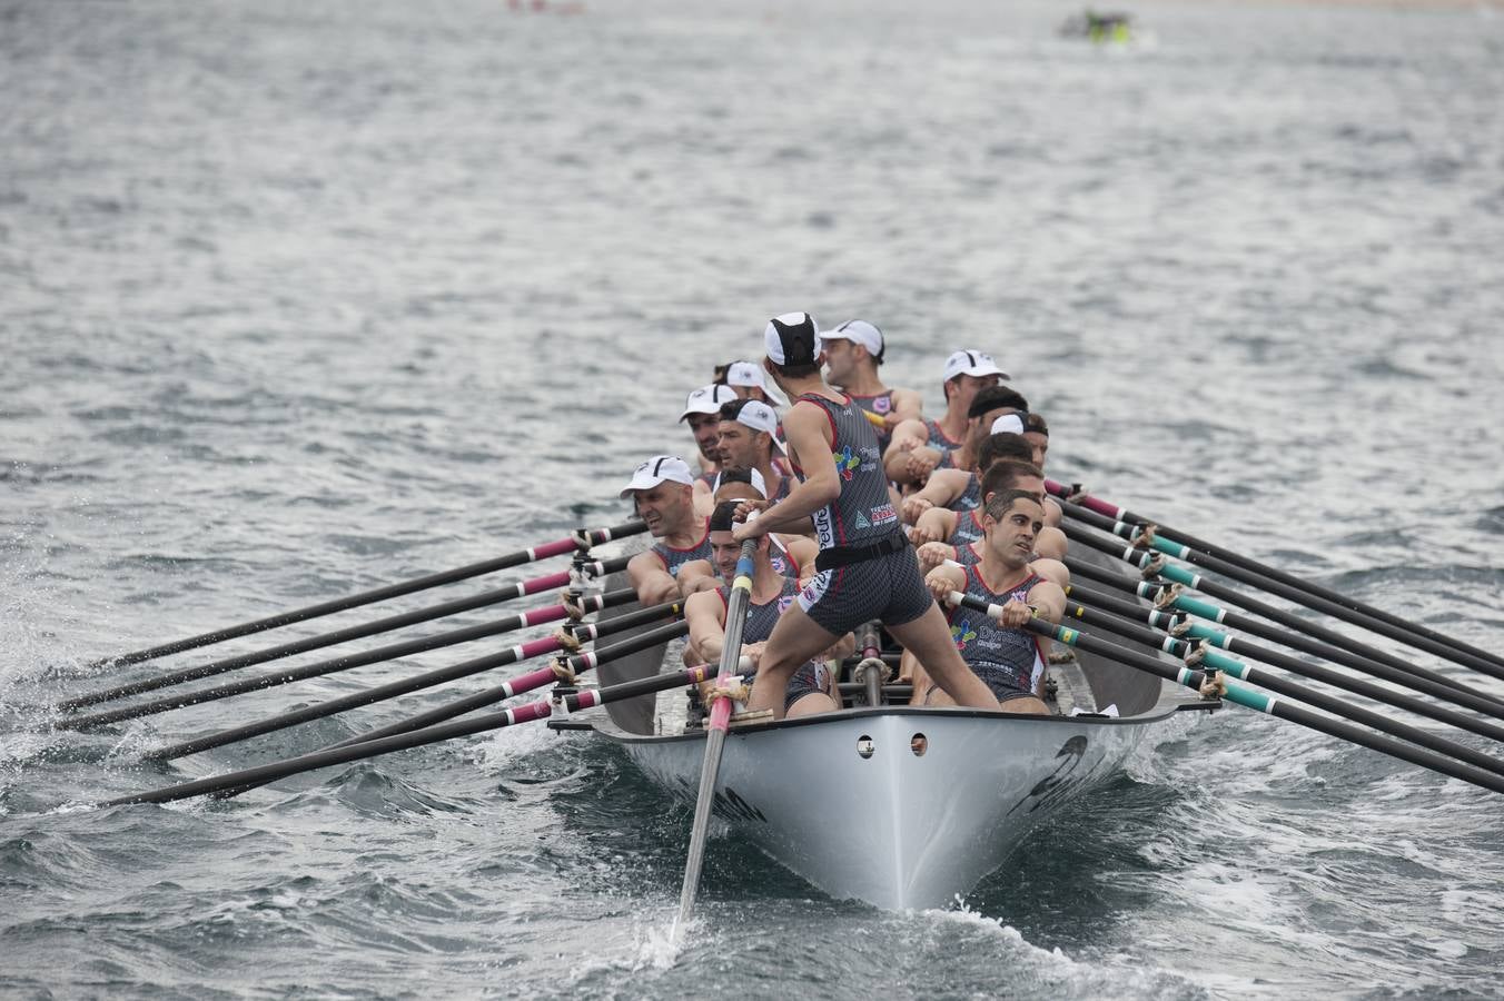
[[781, 717], [782, 693], [799, 667], [872, 619], [914, 651], [955, 702], [997, 708], [997, 699], [957, 654], [945, 615], [925, 591], [887, 496], [872, 425], [851, 397], [830, 389], [820, 374], [824, 358], [814, 317], [775, 317], [763, 341], [763, 367], [793, 401], [784, 433], [803, 482], [761, 517], [737, 525], [732, 535], [746, 541], [814, 516], [821, 552], [820, 573], [779, 618], [763, 648], [749, 708]]

